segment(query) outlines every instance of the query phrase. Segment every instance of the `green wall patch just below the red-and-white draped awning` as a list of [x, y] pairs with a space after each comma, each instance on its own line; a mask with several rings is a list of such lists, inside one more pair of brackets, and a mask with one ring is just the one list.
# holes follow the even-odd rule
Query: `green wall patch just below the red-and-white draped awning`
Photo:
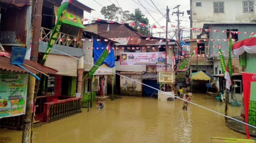
[[256, 63], [256, 54], [246, 53], [245, 72], [256, 73], [255, 63]]

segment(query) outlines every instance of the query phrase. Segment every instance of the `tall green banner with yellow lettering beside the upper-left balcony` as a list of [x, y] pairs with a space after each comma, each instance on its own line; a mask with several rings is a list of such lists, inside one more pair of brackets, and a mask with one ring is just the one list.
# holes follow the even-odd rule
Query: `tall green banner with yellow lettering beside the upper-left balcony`
[[58, 21], [56, 22], [56, 24], [53, 28], [53, 32], [50, 36], [46, 52], [45, 52], [44, 57], [42, 59], [42, 65], [44, 65], [44, 63], [47, 59], [47, 56], [49, 55], [49, 52], [51, 51], [51, 48], [53, 47], [53, 44], [55, 44], [55, 41], [58, 37], [58, 32], [60, 31], [60, 27], [62, 25], [62, 21], [65, 17], [65, 13], [67, 11], [68, 6], [69, 6], [69, 0], [62, 0], [61, 5], [60, 5], [60, 7], [58, 8], [58, 11], [57, 11]]

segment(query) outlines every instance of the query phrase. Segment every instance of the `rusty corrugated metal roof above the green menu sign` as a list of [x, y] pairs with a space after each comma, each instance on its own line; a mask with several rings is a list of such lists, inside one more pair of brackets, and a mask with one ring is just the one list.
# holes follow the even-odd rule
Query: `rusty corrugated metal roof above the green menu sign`
[[[45, 74], [56, 74], [58, 72], [55, 69], [46, 67], [44, 65], [41, 65], [41, 64], [38, 64], [31, 60], [26, 60], [26, 59], [24, 60], [24, 64], [22, 66], [24, 66], [26, 69], [28, 69], [29, 71], [36, 73], [36, 74], [42, 73], [42, 72]], [[38, 71], [32, 69], [31, 67], [33, 67], [34, 69], [37, 69]], [[16, 72], [26, 72], [24, 69], [21, 69], [20, 67], [18, 67], [16, 65], [12, 65], [10, 63], [10, 58], [7, 56], [0, 56], [0, 69], [7, 70], [7, 71], [11, 70], [11, 71], [16, 71]], [[41, 71], [41, 72], [39, 72], [39, 71]]]

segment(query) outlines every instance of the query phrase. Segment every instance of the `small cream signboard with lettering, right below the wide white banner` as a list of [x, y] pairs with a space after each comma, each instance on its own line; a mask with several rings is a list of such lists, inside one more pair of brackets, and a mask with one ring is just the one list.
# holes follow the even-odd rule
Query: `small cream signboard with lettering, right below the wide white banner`
[[174, 83], [173, 72], [158, 72], [157, 75], [158, 83]]

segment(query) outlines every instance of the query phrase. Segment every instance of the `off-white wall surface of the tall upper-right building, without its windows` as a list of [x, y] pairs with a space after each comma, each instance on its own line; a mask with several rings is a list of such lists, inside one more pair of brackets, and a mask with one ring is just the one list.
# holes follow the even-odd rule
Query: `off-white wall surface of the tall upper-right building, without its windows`
[[[255, 6], [254, 12], [243, 12], [244, 0], [191, 0], [191, 18], [193, 28], [202, 28], [203, 23], [243, 23], [256, 22]], [[256, 0], [254, 1], [256, 4]], [[196, 7], [196, 2], [201, 2], [201, 7]], [[214, 13], [213, 2], [224, 2], [224, 13]], [[192, 39], [200, 32], [194, 30]]]

